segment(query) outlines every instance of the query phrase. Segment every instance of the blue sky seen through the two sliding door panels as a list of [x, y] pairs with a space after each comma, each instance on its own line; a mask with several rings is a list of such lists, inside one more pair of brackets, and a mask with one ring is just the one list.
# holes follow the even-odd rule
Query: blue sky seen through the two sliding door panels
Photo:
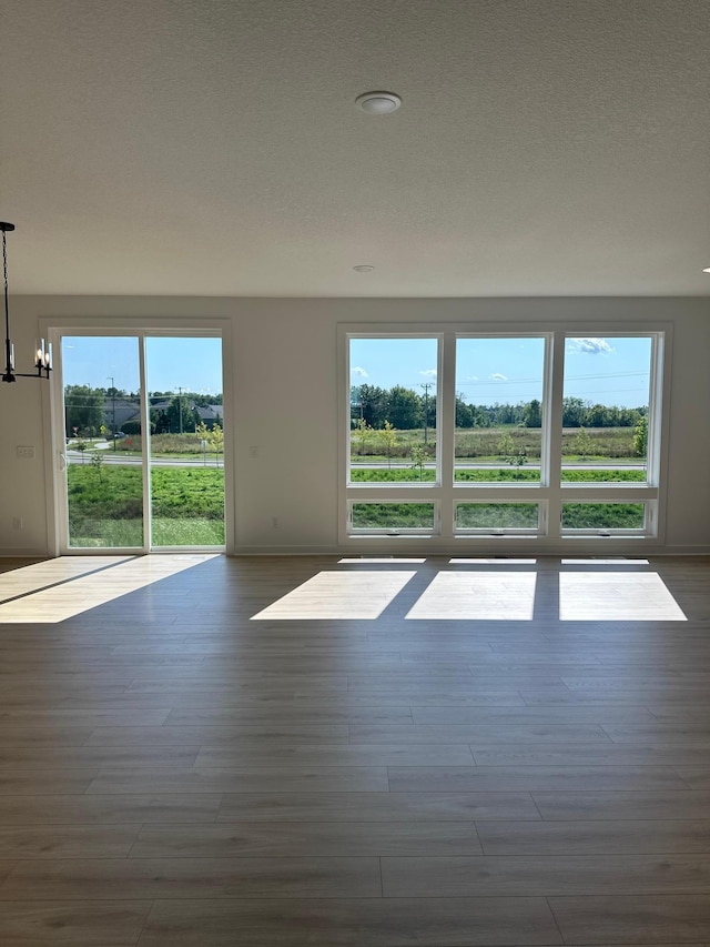
[[[195, 394], [222, 391], [222, 340], [146, 339], [149, 392], [179, 387]], [[65, 385], [115, 387], [136, 392], [139, 381], [138, 340], [133, 336], [65, 336], [62, 342], [62, 372]]]

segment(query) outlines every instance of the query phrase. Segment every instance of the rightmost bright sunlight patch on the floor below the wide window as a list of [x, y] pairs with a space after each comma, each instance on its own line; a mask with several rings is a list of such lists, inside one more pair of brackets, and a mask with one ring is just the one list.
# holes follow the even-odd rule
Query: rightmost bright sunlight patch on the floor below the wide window
[[562, 622], [687, 622], [657, 572], [564, 572]]

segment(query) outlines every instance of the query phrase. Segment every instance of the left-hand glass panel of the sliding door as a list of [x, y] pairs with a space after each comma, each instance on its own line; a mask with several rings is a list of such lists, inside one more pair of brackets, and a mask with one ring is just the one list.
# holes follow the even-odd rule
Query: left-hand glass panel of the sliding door
[[63, 336], [67, 545], [142, 548], [143, 459], [135, 336]]

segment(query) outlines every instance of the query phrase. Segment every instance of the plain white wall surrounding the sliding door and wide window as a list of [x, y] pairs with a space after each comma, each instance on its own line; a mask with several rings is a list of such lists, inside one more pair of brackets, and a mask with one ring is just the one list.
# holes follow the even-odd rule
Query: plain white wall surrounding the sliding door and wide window
[[[11, 300], [18, 370], [29, 370], [40, 318], [227, 318], [234, 367], [236, 552], [337, 551], [336, 328], [341, 322], [670, 322], [673, 325], [665, 552], [710, 552], [710, 300], [327, 300], [20, 296]], [[0, 386], [0, 555], [42, 555], [47, 383]], [[303, 420], [307, 406], [307, 437]], [[34, 445], [36, 457], [17, 456]], [[257, 447], [257, 456], [251, 449]], [[12, 521], [21, 517], [22, 528]], [[273, 527], [276, 517], [278, 526]], [[387, 541], [389, 542], [389, 541]], [[394, 547], [396, 548], [396, 546]], [[458, 546], [457, 546], [458, 548]], [[460, 550], [459, 550], [460, 551]]]

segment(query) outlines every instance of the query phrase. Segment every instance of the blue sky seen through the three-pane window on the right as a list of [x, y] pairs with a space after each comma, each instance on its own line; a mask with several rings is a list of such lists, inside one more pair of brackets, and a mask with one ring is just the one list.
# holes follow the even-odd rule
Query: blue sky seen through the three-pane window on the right
[[[352, 339], [351, 384], [436, 391], [435, 339]], [[542, 397], [542, 339], [459, 339], [456, 391], [470, 404], [517, 404]], [[565, 396], [592, 403], [648, 404], [649, 338], [568, 339]]]

